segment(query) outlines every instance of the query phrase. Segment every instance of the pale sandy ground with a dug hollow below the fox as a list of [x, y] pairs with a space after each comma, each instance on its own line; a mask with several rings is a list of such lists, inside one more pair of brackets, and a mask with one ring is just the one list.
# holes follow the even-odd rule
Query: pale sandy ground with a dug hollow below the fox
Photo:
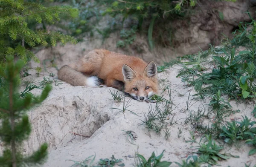
[[[65, 60], [61, 64], [69, 63], [67, 58]], [[188, 155], [196, 151], [198, 144], [186, 142], [192, 137], [190, 132], [194, 131], [194, 127], [191, 124], [185, 124], [184, 121], [191, 111], [196, 111], [198, 108], [205, 108], [207, 111], [209, 100], [196, 102], [192, 99], [192, 95], [195, 94], [194, 88], [186, 87], [180, 78], [176, 78], [182, 68], [181, 64], [177, 64], [166, 72], [158, 74], [159, 80], [165, 80], [160, 86], [170, 86], [173, 102], [173, 111], [166, 120], [167, 126], [160, 134], [148, 131], [144, 125], [141, 125], [144, 114], [147, 114], [150, 107], [154, 109], [155, 104], [131, 100], [131, 106], [128, 109], [137, 115], [130, 111], [119, 112], [113, 108], [122, 109], [122, 102], [114, 102], [109, 93], [110, 90], [113, 92], [116, 89], [105, 86], [99, 88], [71, 86], [64, 82], [56, 86], [53, 83], [49, 97], [43, 104], [29, 112], [33, 129], [25, 144], [24, 152], [31, 153], [40, 144], [47, 142], [49, 158], [43, 167], [70, 167], [73, 162], [66, 160], [81, 161], [90, 155], [96, 155], [95, 162], [100, 158], [111, 158], [114, 155], [115, 158], [122, 158], [125, 166], [129, 167], [134, 164], [134, 155], [137, 151], [148, 158], [153, 151], [160, 155], [163, 150], [166, 150], [163, 160], [172, 162], [186, 160]], [[41, 72], [39, 77], [36, 76], [35, 71], [31, 70], [29, 73], [32, 75], [23, 78], [23, 82], [32, 81], [38, 84], [38, 81], [42, 81], [44, 77], [49, 77], [49, 72], [57, 76], [55, 68], [48, 68], [47, 72]], [[189, 102], [191, 101], [192, 105], [189, 110], [186, 110], [189, 91], [191, 91]], [[34, 94], [40, 92], [40, 89], [32, 91]], [[180, 93], [184, 96], [179, 96]], [[161, 95], [166, 99], [169, 98], [167, 91]], [[129, 98], [126, 97], [125, 103], [128, 100]], [[230, 104], [234, 110], [240, 109], [241, 112], [234, 113], [224, 121], [241, 120], [242, 115], [247, 115], [248, 118], [253, 117], [250, 114], [254, 106], [251, 102], [238, 104], [231, 101]], [[255, 121], [255, 118], [252, 120]], [[168, 129], [170, 136], [166, 139], [164, 131]], [[182, 131], [180, 137], [177, 135], [179, 129]], [[122, 130], [131, 130], [137, 134], [138, 138], [134, 144], [128, 141], [127, 135]], [[74, 135], [71, 132], [86, 137]], [[201, 139], [199, 133], [195, 132], [194, 135], [197, 141]], [[256, 164], [256, 155], [248, 156], [250, 147], [244, 144], [244, 141], [239, 143], [239, 147], [229, 147], [227, 144], [224, 144], [224, 147], [223, 153], [239, 155], [240, 158], [218, 161], [221, 166], [244, 167], [244, 163]]]

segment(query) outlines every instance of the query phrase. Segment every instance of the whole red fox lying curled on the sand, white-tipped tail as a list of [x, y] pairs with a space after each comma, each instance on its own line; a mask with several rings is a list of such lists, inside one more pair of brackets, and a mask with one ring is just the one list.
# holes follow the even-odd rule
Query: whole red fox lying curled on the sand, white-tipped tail
[[[96, 87], [104, 83], [146, 101], [158, 93], [157, 65], [133, 56], [95, 49], [76, 63], [58, 70], [58, 78], [73, 86]], [[102, 82], [101, 82], [102, 81]]]

